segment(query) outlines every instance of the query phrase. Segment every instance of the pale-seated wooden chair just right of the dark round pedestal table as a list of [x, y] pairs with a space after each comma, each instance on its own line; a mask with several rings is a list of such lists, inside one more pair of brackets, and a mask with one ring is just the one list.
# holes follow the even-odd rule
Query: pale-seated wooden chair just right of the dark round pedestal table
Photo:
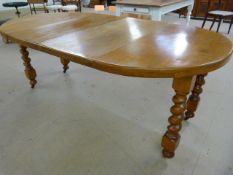
[[27, 2], [30, 7], [31, 14], [33, 14], [33, 12], [36, 14], [37, 11], [44, 11], [45, 13], [48, 12], [46, 8], [48, 0], [27, 0]]

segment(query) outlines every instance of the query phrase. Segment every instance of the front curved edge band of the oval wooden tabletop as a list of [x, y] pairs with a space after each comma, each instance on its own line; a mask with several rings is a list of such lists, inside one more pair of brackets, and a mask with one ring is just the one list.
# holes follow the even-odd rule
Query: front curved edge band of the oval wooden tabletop
[[[177, 69], [156, 69], [156, 70], [145, 70], [135, 67], [128, 67], [128, 66], [120, 66], [115, 64], [110, 64], [106, 62], [101, 62], [97, 60], [91, 60], [90, 58], [85, 58], [81, 56], [76, 56], [70, 53], [65, 53], [60, 50], [55, 50], [48, 48], [43, 45], [38, 45], [36, 43], [31, 43], [27, 41], [22, 41], [12, 36], [5, 34], [4, 32], [0, 31], [0, 34], [3, 36], [8, 37], [11, 41], [15, 42], [16, 44], [45, 52], [47, 54], [56, 56], [58, 58], [69, 58], [70, 61], [91, 67], [100, 71], [123, 75], [128, 77], [143, 77], [143, 78], [172, 78], [172, 77], [187, 77], [187, 76], [194, 76], [199, 74], [205, 74], [217, 70], [223, 67], [226, 63], [230, 61], [231, 55], [233, 54], [232, 50], [226, 54], [225, 58], [220, 58], [220, 61], [215, 61], [212, 63], [208, 63], [207, 65], [200, 65], [200, 66], [193, 66], [193, 67], [182, 67]], [[228, 39], [228, 38], [227, 38]]]

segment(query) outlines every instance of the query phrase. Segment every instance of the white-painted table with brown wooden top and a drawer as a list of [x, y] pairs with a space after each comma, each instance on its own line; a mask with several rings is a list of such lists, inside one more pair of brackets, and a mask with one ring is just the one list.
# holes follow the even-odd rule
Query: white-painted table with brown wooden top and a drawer
[[117, 0], [117, 16], [124, 13], [136, 13], [151, 16], [154, 21], [161, 21], [162, 15], [188, 7], [187, 25], [190, 21], [194, 0]]

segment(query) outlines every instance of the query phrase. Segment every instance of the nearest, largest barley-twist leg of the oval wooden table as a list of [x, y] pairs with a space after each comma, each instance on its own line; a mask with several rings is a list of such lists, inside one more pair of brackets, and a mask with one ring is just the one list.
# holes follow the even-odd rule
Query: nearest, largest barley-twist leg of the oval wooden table
[[193, 77], [174, 78], [173, 89], [175, 90], [175, 96], [173, 97], [174, 105], [170, 111], [172, 115], [169, 117], [169, 125], [167, 131], [162, 139], [163, 156], [166, 158], [172, 158], [175, 155], [175, 150], [180, 141], [179, 131], [182, 127], [182, 121], [184, 118], [184, 111], [186, 109], [187, 95], [190, 92]]

